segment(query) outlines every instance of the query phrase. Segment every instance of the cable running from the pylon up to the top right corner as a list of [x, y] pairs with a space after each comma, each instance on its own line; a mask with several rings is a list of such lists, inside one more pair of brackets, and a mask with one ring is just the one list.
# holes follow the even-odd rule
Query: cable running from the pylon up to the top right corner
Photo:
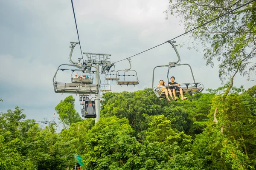
[[[224, 15], [227, 15], [227, 14], [229, 14], [230, 12], [233, 12], [233, 11], [235, 11], [235, 10], [237, 10], [237, 9], [239, 9], [239, 8], [241, 8], [241, 7], [243, 7], [243, 6], [248, 5], [249, 3], [252, 3], [253, 1], [255, 1], [255, 0], [251, 0], [250, 2], [245, 3], [244, 5], [241, 5], [241, 6], [235, 8], [235, 9], [233, 9], [233, 10], [231, 10], [231, 11], [228, 11], [228, 12], [226, 12], [225, 14], [222, 14], [222, 15], [220, 15], [220, 16], [218, 16], [218, 17], [216, 17], [216, 18], [214, 18], [214, 19], [212, 19], [212, 20], [210, 20], [210, 21], [208, 21], [208, 22], [206, 22], [206, 23], [203, 23], [203, 24], [200, 25], [200, 26], [197, 26], [197, 27], [195, 27], [195, 28], [193, 28], [193, 29], [191, 29], [191, 30], [189, 30], [189, 31], [186, 31], [185, 33], [180, 34], [179, 36], [177, 36], [177, 37], [175, 37], [175, 38], [172, 38], [171, 40], [168, 40], [168, 41], [166, 41], [166, 42], [172, 41], [172, 40], [174, 40], [174, 39], [176, 39], [176, 38], [178, 38], [178, 37], [180, 37], [180, 36], [183, 36], [184, 34], [187, 34], [187, 33], [191, 32], [191, 31], [194, 31], [195, 29], [197, 29], [197, 28], [199, 28], [199, 27], [201, 27], [201, 26], [204, 26], [204, 25], [206, 25], [206, 24], [208, 24], [208, 23], [210, 23], [210, 22], [212, 22], [212, 21], [214, 21], [214, 20], [217, 20], [218, 18], [223, 17]], [[154, 46], [154, 47], [152, 47], [152, 48], [149, 48], [149, 49], [147, 49], [147, 50], [145, 50], [145, 51], [148, 51], [148, 50], [151, 50], [151, 49], [153, 49], [153, 48], [156, 48], [156, 47], [158, 47], [158, 46], [160, 46], [160, 45], [165, 44], [166, 42], [163, 42], [162, 44], [159, 44], [159, 45], [157, 45], [157, 46]], [[137, 55], [139, 55], [139, 54], [141, 54], [141, 53], [144, 53], [145, 51], [142, 51], [142, 52], [140, 52], [140, 53], [138, 53], [138, 54], [135, 54], [135, 55], [133, 55], [133, 56], [131, 56], [131, 57], [137, 56]], [[129, 59], [129, 58], [131, 58], [131, 57], [128, 57], [128, 58], [125, 58], [125, 59]], [[125, 59], [121, 59], [121, 60], [116, 61], [116, 62], [120, 62], [120, 61], [123, 61], [123, 60], [125, 60]], [[116, 63], [116, 62], [113, 62], [113, 63]]]

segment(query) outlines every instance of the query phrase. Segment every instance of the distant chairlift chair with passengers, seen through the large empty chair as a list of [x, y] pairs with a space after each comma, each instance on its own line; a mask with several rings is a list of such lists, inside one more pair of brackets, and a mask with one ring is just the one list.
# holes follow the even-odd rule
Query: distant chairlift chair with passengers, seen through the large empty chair
[[81, 83], [81, 84], [93, 84], [93, 75], [84, 74], [79, 71], [76, 74], [71, 74], [72, 83]]

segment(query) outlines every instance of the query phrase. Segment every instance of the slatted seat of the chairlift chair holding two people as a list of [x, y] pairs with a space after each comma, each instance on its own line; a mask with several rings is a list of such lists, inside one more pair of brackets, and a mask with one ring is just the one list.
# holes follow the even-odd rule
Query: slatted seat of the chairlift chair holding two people
[[[164, 86], [164, 87], [168, 88], [169, 86]], [[201, 84], [200, 82], [183, 83], [183, 84], [180, 84], [179, 87], [182, 88], [183, 95], [200, 93], [204, 90], [204, 85]], [[157, 95], [158, 98], [166, 97], [166, 94], [163, 93], [160, 88], [154, 87], [154, 93]], [[180, 91], [176, 90], [175, 94], [176, 94], [176, 96], [180, 96]], [[169, 95], [169, 93], [168, 93], [168, 95]]]

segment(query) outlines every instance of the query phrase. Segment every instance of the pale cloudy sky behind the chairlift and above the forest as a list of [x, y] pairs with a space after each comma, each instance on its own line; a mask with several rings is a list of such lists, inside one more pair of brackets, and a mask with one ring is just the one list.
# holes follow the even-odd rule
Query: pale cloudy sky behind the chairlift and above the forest
[[[74, 0], [73, 5], [82, 51], [112, 54], [111, 62], [131, 57], [185, 32], [180, 18], [165, 19], [167, 0]], [[44, 117], [53, 117], [55, 106], [70, 95], [55, 93], [52, 78], [59, 65], [69, 64], [70, 41], [78, 42], [71, 1], [0, 1], [0, 37], [0, 98], [3, 99], [0, 112], [19, 106], [27, 119], [40, 122]], [[181, 64], [191, 65], [195, 81], [201, 82], [205, 89], [220, 87], [218, 63], [215, 61], [213, 68], [206, 66], [203, 49], [188, 48], [193, 45], [189, 35], [175, 40]], [[72, 60], [78, 58], [81, 58], [79, 45]], [[175, 61], [177, 56], [169, 43], [132, 57], [132, 70], [137, 71], [140, 84], [120, 87], [111, 82], [111, 90], [132, 92], [151, 88], [153, 68]], [[116, 63], [116, 70], [125, 68], [129, 68], [127, 60]], [[157, 68], [154, 86], [160, 79], [167, 82], [166, 74], [167, 68]], [[171, 74], [179, 83], [192, 82], [186, 66], [172, 68]], [[64, 76], [59, 78], [70, 79], [70, 75]], [[244, 85], [245, 89], [255, 85], [246, 79], [237, 76], [234, 85]], [[101, 81], [104, 82], [104, 75]], [[79, 95], [73, 96], [80, 113]]]

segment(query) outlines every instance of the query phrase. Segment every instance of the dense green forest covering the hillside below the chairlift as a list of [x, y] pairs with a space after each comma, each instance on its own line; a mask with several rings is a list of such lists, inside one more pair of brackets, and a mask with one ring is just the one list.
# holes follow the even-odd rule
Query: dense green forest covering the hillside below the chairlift
[[177, 102], [159, 100], [151, 88], [108, 92], [96, 125], [68, 96], [55, 107], [60, 133], [16, 107], [0, 114], [0, 169], [72, 169], [81, 155], [85, 170], [254, 170], [256, 86], [224, 97], [227, 88]]

